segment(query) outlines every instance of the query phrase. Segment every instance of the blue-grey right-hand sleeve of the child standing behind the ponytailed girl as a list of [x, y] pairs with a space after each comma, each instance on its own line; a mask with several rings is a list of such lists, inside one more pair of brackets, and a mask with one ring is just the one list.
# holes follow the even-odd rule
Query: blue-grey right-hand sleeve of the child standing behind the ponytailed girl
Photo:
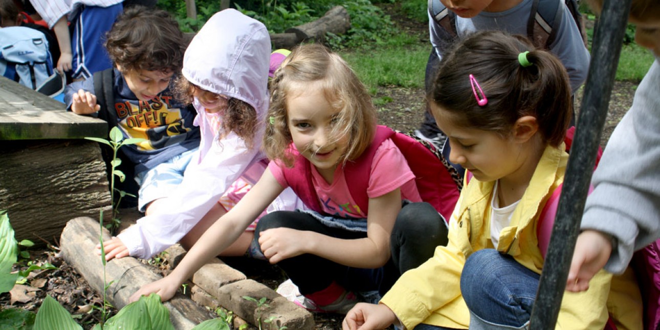
[[590, 56], [568, 7], [564, 5], [563, 8], [564, 15], [560, 15], [561, 21], [555, 24], [557, 28], [556, 38], [550, 44], [550, 51], [566, 67], [571, 82], [571, 90], [575, 93], [579, 86], [587, 80]]

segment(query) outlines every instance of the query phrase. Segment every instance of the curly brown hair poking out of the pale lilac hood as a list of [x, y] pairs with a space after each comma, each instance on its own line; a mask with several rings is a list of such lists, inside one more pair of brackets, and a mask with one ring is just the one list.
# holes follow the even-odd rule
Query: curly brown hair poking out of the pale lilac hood
[[[192, 82], [185, 79], [183, 75], [179, 75], [174, 81], [174, 96], [185, 102], [191, 104], [193, 102], [193, 94], [195, 88], [198, 88]], [[257, 111], [243, 100], [238, 98], [229, 98], [227, 100], [227, 109], [220, 114], [220, 139], [225, 137], [229, 132], [233, 131], [241, 139], [246, 141], [246, 147], [252, 149], [254, 146], [255, 127], [257, 127]]]

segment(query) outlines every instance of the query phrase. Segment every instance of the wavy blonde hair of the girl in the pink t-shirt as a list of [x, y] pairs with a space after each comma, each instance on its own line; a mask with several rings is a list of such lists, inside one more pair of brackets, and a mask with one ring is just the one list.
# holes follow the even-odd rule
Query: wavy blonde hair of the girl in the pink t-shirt
[[[349, 141], [342, 162], [354, 160], [369, 147], [376, 132], [376, 108], [364, 84], [337, 54], [320, 44], [293, 49], [271, 81], [271, 123], [266, 125], [264, 150], [270, 159], [293, 166], [292, 143], [286, 114], [287, 98], [319, 88], [335, 109], [340, 109], [331, 140]], [[303, 87], [304, 86], [304, 87]]]

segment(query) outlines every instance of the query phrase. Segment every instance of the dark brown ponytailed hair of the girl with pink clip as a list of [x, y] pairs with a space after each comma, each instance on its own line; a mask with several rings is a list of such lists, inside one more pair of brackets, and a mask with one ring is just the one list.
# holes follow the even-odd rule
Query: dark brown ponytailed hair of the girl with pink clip
[[[518, 59], [525, 51], [533, 64], [528, 67]], [[488, 98], [485, 106], [477, 104], [470, 75]], [[501, 31], [475, 32], [457, 43], [440, 64], [427, 98], [456, 114], [458, 125], [503, 137], [519, 117], [536, 117], [543, 141], [554, 147], [564, 141], [573, 111], [562, 63], [523, 36]]]

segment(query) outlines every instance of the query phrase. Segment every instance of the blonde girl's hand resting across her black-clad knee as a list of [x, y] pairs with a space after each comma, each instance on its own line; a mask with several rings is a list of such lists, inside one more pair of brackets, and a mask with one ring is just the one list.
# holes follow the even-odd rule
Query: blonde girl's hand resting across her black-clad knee
[[291, 228], [273, 228], [259, 234], [259, 246], [271, 263], [295, 257], [309, 251], [306, 244], [312, 242], [309, 232]]

